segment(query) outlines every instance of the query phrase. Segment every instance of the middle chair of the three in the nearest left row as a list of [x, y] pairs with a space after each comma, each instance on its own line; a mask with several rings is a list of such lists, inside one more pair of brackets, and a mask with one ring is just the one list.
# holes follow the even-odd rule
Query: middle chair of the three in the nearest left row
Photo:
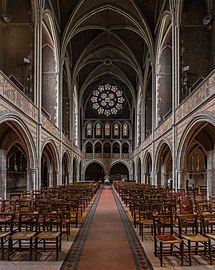
[[30, 260], [32, 260], [32, 254], [37, 249], [38, 213], [19, 213], [18, 220], [17, 231], [9, 238], [8, 260], [10, 260], [10, 256], [17, 250], [22, 251], [26, 249], [29, 250]]

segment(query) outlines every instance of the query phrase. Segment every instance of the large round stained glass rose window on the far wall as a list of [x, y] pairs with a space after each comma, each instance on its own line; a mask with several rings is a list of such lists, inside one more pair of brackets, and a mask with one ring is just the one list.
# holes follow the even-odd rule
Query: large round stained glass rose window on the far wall
[[125, 98], [116, 85], [99, 85], [91, 96], [93, 109], [100, 115], [110, 116], [122, 110]]

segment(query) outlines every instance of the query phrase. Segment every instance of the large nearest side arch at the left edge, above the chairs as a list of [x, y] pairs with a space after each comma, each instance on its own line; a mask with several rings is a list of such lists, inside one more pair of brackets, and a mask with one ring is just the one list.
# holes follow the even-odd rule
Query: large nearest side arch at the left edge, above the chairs
[[[10, 116], [8, 115], [8, 119]], [[36, 185], [33, 140], [25, 124], [12, 116], [0, 124], [0, 196], [25, 192]]]

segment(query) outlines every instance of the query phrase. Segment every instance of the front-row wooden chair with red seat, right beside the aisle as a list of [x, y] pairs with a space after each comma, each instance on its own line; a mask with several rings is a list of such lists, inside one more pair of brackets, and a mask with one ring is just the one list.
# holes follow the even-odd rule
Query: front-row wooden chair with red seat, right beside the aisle
[[[166, 222], [168, 220], [168, 222]], [[165, 221], [165, 222], [164, 222]], [[164, 255], [176, 255], [183, 265], [183, 242], [173, 232], [173, 216], [171, 214], [154, 214], [154, 253], [163, 266]]]

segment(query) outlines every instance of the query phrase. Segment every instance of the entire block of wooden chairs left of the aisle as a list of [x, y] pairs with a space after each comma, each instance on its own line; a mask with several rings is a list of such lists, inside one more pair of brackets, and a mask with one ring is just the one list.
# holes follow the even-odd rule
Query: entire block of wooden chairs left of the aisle
[[[58, 186], [32, 191], [18, 198], [0, 201], [1, 257], [10, 260], [17, 251], [29, 251], [35, 260], [41, 251], [61, 251], [62, 236], [70, 235], [71, 224], [78, 225], [99, 184]], [[67, 189], [67, 196], [66, 190]], [[76, 194], [74, 194], [76, 190]], [[15, 194], [13, 194], [15, 195]]]

